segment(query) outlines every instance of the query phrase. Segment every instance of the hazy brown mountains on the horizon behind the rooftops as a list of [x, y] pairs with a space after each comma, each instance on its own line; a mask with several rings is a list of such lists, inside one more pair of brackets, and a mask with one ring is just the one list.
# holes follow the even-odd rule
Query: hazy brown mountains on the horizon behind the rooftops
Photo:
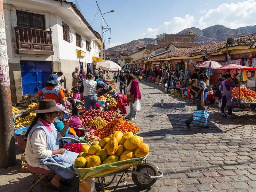
[[[216, 41], [225, 40], [229, 37], [235, 38], [239, 36], [245, 36], [245, 35], [256, 33], [256, 25], [240, 27], [237, 29], [227, 28], [223, 25], [214, 25], [205, 29], [192, 27], [192, 28], [186, 28], [177, 34], [180, 34], [180, 35], [188, 34], [189, 32], [195, 33], [195, 42], [199, 44], [210, 44]], [[136, 47], [146, 46], [148, 43], [151, 43], [154, 40], [156, 39], [154, 38], [137, 39], [126, 44], [121, 44], [121, 45], [111, 47], [107, 49], [106, 52], [125, 51], [125, 50], [132, 52], [136, 50]]]

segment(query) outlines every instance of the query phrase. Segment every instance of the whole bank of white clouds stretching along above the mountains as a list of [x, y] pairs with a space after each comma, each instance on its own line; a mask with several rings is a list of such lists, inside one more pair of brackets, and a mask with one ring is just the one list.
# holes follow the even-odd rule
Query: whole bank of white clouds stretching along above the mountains
[[[201, 2], [201, 0], [199, 1]], [[207, 5], [207, 3], [205, 3]], [[193, 15], [174, 17], [170, 21], [163, 22], [158, 28], [147, 28], [143, 36], [155, 38], [161, 33], [178, 33], [185, 28], [197, 27], [204, 29], [213, 25], [224, 25], [228, 28], [239, 28], [248, 25], [256, 25], [256, 0], [247, 0], [238, 3], [224, 3], [217, 8], [201, 10], [201, 17], [196, 20]]]

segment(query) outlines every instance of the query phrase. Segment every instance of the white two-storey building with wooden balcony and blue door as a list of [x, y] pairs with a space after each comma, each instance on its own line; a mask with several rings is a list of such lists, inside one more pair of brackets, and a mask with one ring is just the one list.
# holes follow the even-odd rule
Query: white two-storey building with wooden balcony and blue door
[[4, 16], [12, 102], [36, 94], [54, 71], [72, 88], [75, 68], [86, 72], [99, 57], [100, 34], [72, 2], [4, 0]]

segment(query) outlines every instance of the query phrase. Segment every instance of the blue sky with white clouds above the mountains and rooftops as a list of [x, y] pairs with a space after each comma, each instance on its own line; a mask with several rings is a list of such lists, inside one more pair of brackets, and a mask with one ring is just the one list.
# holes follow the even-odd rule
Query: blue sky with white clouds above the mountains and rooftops
[[[76, 0], [85, 19], [101, 34], [102, 18], [95, 0]], [[73, 2], [76, 4], [76, 1]], [[110, 47], [185, 28], [204, 29], [221, 24], [229, 28], [255, 25], [256, 0], [97, 0], [111, 28]], [[93, 21], [95, 17], [95, 20]], [[93, 23], [92, 23], [93, 21]], [[104, 24], [104, 27], [106, 24]], [[109, 32], [103, 40], [109, 37]], [[108, 43], [108, 40], [105, 41]], [[106, 46], [108, 47], [108, 45]]]

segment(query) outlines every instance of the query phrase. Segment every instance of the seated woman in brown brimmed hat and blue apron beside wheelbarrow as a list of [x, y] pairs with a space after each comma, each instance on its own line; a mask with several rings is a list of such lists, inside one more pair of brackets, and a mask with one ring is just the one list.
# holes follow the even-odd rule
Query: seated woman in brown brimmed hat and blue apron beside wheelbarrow
[[50, 162], [72, 168], [78, 156], [78, 153], [66, 151], [64, 148], [59, 149], [59, 140], [69, 127], [68, 123], [60, 132], [57, 132], [53, 123], [59, 111], [55, 100], [39, 101], [38, 109], [33, 111], [36, 117], [25, 135], [27, 138], [25, 154], [29, 171], [38, 174], [55, 172], [56, 175], [49, 182], [48, 187], [56, 191], [66, 191], [65, 179], [72, 179], [75, 174], [56, 166], [46, 165]]

